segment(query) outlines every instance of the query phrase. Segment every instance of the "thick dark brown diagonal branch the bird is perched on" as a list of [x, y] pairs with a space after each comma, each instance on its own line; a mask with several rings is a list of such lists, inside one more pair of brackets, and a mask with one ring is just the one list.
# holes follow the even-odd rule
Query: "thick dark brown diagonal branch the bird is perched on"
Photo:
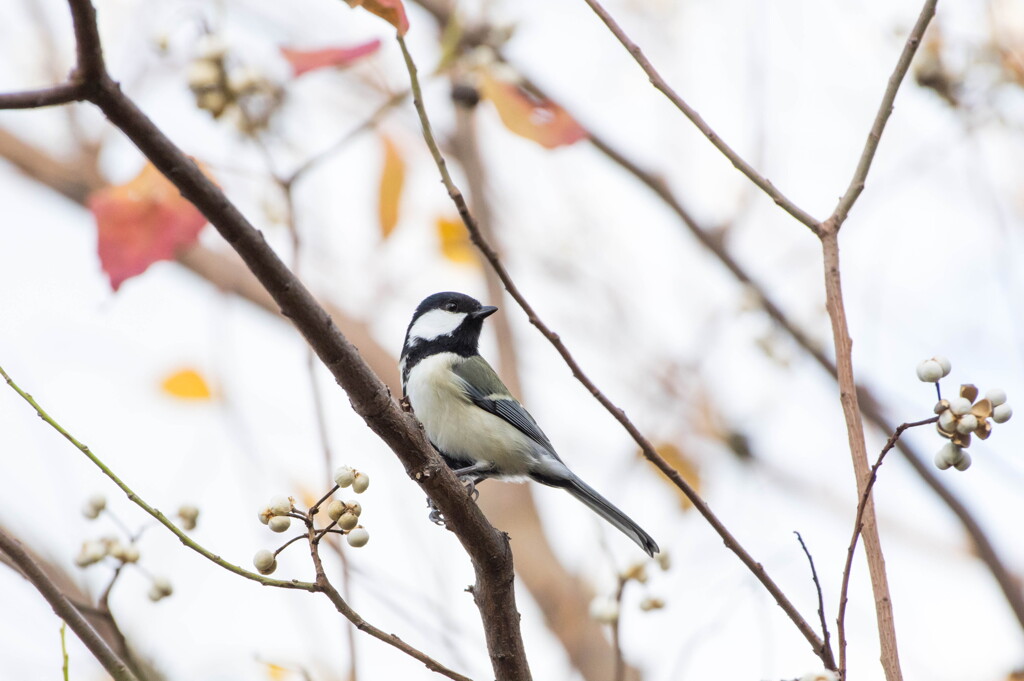
[[407, 473], [433, 500], [473, 563], [476, 573], [473, 595], [480, 610], [496, 677], [503, 681], [527, 681], [530, 675], [515, 606], [508, 539], [487, 522], [427, 441], [419, 424], [391, 398], [387, 386], [367, 366], [358, 350], [338, 332], [327, 311], [281, 261], [259, 231], [111, 80], [103, 68], [91, 2], [69, 0], [69, 5], [78, 40], [78, 73], [87, 81], [89, 100], [242, 256], [282, 313], [292, 321], [346, 390], [355, 412], [391, 448]]

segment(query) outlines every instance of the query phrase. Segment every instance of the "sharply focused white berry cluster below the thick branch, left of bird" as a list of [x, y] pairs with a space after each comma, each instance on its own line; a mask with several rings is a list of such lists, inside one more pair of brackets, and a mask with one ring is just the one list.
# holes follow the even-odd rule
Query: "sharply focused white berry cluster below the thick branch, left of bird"
[[[336, 486], [330, 494], [334, 494], [339, 488], [351, 487], [352, 492], [361, 495], [370, 487], [370, 476], [362, 471], [357, 471], [349, 466], [340, 466], [334, 471], [334, 481]], [[330, 495], [328, 495], [330, 497]], [[345, 536], [345, 541], [353, 548], [366, 546], [370, 541], [370, 533], [359, 524], [359, 516], [362, 515], [362, 506], [354, 500], [339, 501], [331, 499], [327, 504], [327, 515], [331, 519], [330, 524], [319, 528], [317, 531], [340, 533]], [[300, 518], [306, 526], [313, 528], [312, 516], [317, 508], [312, 509], [312, 513], [303, 513], [295, 508], [295, 500], [291, 497], [279, 495], [260, 509], [259, 520], [268, 526], [272, 531], [286, 531], [292, 524], [292, 518]], [[287, 544], [285, 546], [288, 546]], [[284, 549], [269, 551], [260, 549], [253, 556], [253, 565], [260, 574], [271, 574], [278, 569], [278, 554]]]

